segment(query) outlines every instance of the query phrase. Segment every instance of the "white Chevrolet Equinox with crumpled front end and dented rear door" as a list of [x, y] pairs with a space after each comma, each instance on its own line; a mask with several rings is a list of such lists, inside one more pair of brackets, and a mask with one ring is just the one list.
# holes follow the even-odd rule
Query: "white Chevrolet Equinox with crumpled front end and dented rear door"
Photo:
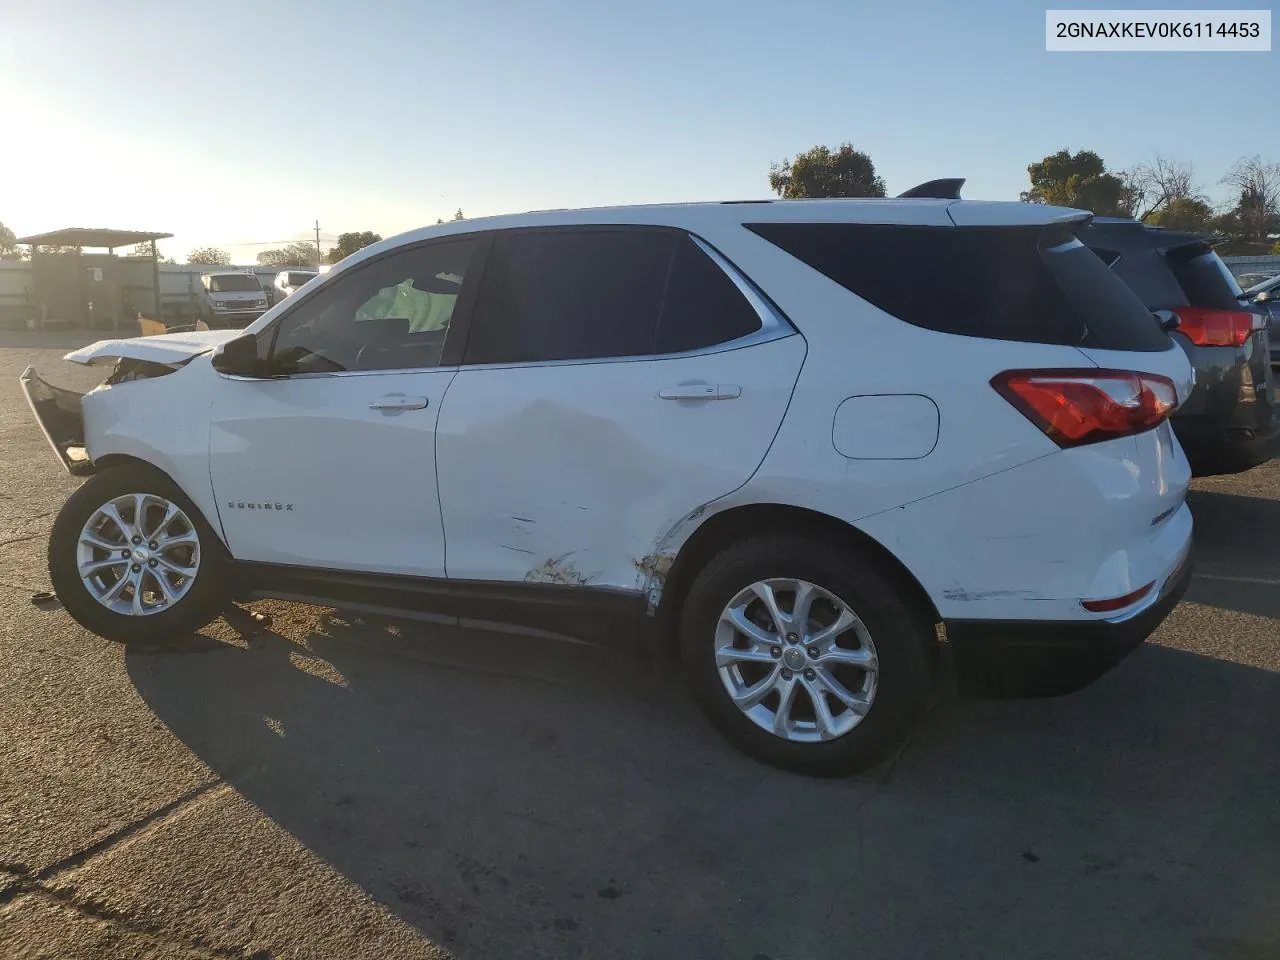
[[1189, 576], [1183, 351], [1075, 238], [954, 197], [550, 211], [366, 247], [246, 330], [23, 385], [65, 609], [179, 637], [232, 598], [678, 637], [712, 723], [812, 773], [960, 685], [1048, 695]]

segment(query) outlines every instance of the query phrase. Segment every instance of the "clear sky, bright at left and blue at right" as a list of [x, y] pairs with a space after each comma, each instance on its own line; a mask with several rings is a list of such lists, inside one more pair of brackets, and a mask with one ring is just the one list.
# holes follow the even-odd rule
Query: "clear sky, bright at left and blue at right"
[[1236, 157], [1280, 161], [1280, 52], [1048, 54], [1046, 5], [0, 0], [0, 221], [244, 261], [315, 218], [763, 197], [814, 143], [975, 198], [1064, 146], [1162, 150], [1215, 200]]

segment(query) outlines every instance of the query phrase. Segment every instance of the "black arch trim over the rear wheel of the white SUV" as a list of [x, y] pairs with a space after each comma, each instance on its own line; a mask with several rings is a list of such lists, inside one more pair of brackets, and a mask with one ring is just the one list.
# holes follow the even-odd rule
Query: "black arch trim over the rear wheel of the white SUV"
[[663, 636], [676, 637], [676, 623], [685, 595], [698, 573], [721, 549], [746, 536], [785, 529], [790, 532], [808, 532], [814, 538], [836, 540], [847, 549], [876, 562], [877, 567], [911, 596], [933, 622], [941, 620], [929, 594], [920, 581], [872, 536], [842, 520], [782, 503], [753, 503], [713, 515], [685, 541], [667, 573], [658, 604], [658, 626]]

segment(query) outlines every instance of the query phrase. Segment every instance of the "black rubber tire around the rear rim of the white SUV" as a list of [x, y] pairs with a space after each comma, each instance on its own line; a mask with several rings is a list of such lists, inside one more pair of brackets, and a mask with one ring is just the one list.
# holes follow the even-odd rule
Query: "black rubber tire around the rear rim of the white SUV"
[[[879, 659], [876, 699], [837, 740], [796, 744], [753, 723], [730, 699], [716, 667], [724, 605], [759, 580], [799, 579], [829, 590], [867, 625]], [[815, 776], [844, 776], [892, 753], [928, 701], [931, 625], [923, 612], [849, 550], [801, 538], [760, 538], [727, 548], [695, 580], [681, 618], [681, 657], [712, 724], [758, 760]]]

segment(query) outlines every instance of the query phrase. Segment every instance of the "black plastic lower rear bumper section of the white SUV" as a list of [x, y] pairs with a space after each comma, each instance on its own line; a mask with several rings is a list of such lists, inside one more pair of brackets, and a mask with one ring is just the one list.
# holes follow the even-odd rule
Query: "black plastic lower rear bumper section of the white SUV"
[[1190, 576], [1188, 553], [1156, 599], [1123, 620], [948, 621], [960, 692], [1009, 699], [1060, 696], [1088, 686], [1160, 626]]

